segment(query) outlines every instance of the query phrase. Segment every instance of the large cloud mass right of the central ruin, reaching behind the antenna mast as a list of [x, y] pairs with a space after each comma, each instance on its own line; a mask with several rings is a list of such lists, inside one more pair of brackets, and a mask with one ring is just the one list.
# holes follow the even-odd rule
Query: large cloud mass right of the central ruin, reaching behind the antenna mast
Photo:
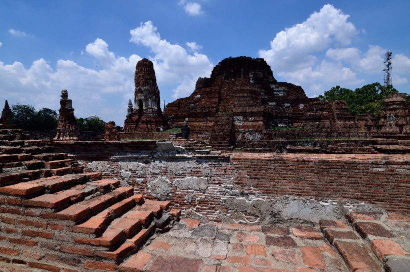
[[[301, 85], [308, 96], [320, 94], [335, 85], [357, 87], [374, 81], [382, 82], [386, 49], [369, 46], [364, 52], [352, 46], [358, 32], [348, 22], [349, 16], [331, 5], [276, 34], [270, 49], [259, 50], [279, 80]], [[394, 55], [395, 84], [404, 84], [404, 73], [410, 71], [410, 59]], [[371, 76], [374, 75], [375, 77]], [[366, 78], [364, 80], [363, 78]]]

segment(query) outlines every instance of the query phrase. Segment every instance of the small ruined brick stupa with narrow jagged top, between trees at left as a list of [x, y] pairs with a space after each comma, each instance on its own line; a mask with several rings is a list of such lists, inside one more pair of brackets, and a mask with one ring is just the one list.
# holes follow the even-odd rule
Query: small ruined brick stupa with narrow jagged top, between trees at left
[[67, 90], [61, 91], [60, 109], [58, 110], [57, 135], [54, 141], [75, 141], [79, 139], [80, 132], [74, 118], [72, 101], [68, 98]]

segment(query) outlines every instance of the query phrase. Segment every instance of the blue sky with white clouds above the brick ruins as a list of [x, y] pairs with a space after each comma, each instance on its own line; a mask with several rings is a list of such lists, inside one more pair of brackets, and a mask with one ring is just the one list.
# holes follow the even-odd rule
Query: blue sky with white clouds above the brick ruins
[[409, 93], [409, 8], [407, 0], [0, 0], [0, 103], [58, 110], [67, 89], [77, 117], [122, 125], [141, 58], [154, 63], [169, 103], [230, 56], [264, 58], [278, 81], [309, 97], [382, 84], [387, 50], [394, 87]]

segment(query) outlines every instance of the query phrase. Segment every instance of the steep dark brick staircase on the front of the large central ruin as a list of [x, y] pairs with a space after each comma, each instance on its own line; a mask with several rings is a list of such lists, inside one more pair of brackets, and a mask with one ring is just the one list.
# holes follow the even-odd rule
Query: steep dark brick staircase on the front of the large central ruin
[[209, 137], [213, 149], [225, 149], [230, 146], [233, 129], [233, 113], [217, 113]]

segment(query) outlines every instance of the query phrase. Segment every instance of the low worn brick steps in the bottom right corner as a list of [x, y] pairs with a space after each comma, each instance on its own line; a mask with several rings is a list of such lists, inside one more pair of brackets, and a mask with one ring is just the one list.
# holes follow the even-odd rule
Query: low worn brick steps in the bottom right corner
[[351, 271], [408, 271], [409, 252], [400, 244], [408, 243], [406, 213], [351, 212], [342, 221], [320, 220], [324, 237], [345, 260]]

